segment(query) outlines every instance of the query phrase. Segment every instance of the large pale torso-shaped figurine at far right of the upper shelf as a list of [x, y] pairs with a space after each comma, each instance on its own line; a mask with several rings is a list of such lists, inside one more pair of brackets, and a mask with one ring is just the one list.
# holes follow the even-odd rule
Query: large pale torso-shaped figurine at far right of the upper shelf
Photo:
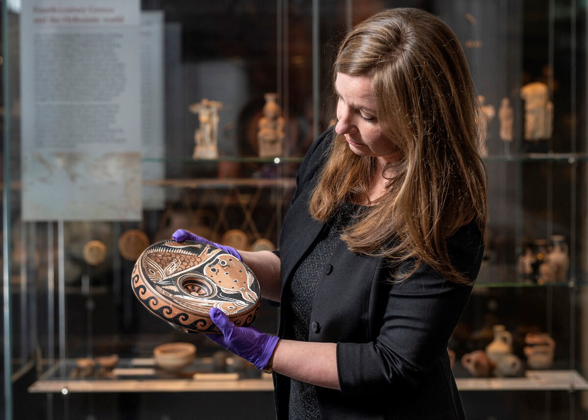
[[549, 139], [553, 132], [553, 103], [547, 85], [527, 83], [520, 88], [520, 97], [524, 100], [524, 139]]

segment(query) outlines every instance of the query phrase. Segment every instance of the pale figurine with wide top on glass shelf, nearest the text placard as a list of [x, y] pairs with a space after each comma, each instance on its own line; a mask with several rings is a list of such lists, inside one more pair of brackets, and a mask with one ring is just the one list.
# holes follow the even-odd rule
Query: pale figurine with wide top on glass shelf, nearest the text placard
[[219, 110], [222, 102], [202, 99], [190, 105], [189, 110], [198, 114], [200, 126], [194, 132], [194, 159], [218, 158]]

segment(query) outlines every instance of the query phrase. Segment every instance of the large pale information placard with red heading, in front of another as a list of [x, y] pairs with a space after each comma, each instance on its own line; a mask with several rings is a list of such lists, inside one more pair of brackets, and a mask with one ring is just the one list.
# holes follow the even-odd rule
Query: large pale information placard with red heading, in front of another
[[140, 7], [24, 2], [23, 220], [141, 219]]

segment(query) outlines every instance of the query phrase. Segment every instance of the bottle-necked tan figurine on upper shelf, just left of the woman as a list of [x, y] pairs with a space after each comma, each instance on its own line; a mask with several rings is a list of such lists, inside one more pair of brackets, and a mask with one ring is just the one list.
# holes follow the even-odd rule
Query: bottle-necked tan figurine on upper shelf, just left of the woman
[[266, 93], [263, 117], [258, 123], [259, 157], [276, 157], [283, 154], [284, 119], [276, 93]]

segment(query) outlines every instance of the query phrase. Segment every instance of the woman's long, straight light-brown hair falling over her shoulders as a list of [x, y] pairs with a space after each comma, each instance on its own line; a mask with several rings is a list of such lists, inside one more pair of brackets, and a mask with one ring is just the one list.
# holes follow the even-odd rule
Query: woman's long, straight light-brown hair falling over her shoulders
[[[371, 78], [380, 129], [402, 152], [384, 170], [386, 193], [342, 239], [356, 253], [415, 258], [414, 270], [426, 263], [469, 283], [450, 263], [447, 238], [471, 221], [485, 235], [487, 182], [482, 114], [457, 36], [425, 11], [383, 11], [343, 40], [333, 83], [339, 72]], [[344, 201], [367, 200], [374, 174], [375, 158], [358, 156], [336, 135], [310, 213], [325, 222]]]

